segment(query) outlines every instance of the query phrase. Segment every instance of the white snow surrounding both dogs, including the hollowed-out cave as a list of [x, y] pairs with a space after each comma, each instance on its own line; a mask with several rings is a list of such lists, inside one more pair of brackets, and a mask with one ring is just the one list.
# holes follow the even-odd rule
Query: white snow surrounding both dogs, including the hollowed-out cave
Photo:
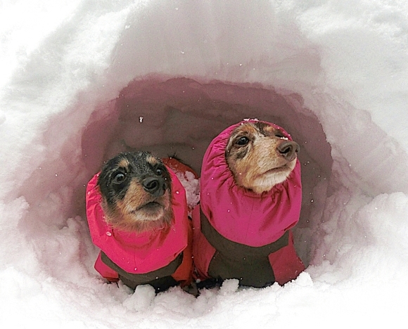
[[[408, 274], [408, 3], [3, 1], [1, 328], [401, 323]], [[301, 146], [287, 285], [134, 294], [93, 269], [87, 181], [123, 150], [199, 170], [222, 129], [275, 122]]]

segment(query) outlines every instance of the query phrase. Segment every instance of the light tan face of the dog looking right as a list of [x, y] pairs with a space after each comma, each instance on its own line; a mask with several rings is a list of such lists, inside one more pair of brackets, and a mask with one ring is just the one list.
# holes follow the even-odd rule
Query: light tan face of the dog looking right
[[238, 186], [262, 193], [288, 178], [299, 150], [272, 125], [244, 122], [231, 132], [225, 158]]

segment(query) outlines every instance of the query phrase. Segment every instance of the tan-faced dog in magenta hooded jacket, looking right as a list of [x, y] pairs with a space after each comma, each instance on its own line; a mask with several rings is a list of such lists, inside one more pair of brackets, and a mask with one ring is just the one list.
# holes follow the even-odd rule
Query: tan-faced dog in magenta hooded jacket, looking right
[[302, 189], [298, 143], [257, 120], [222, 131], [205, 153], [193, 255], [202, 280], [284, 284], [305, 269], [293, 247]]

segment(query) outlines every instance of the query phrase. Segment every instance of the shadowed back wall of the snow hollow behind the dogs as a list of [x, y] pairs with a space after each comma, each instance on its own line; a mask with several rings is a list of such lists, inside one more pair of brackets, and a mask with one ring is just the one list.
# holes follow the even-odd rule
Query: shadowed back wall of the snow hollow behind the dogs
[[212, 138], [245, 118], [274, 122], [300, 144], [303, 199], [294, 233], [300, 257], [309, 264], [316, 214], [324, 207], [333, 159], [319, 120], [297, 93], [186, 78], [134, 80], [91, 114], [82, 133], [82, 157], [89, 175], [117, 153], [133, 150], [177, 155], [200, 172]]

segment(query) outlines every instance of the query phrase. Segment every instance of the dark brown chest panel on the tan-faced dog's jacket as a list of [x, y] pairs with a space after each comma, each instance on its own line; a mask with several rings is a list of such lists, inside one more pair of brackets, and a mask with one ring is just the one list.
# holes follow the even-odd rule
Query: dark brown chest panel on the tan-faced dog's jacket
[[236, 278], [241, 285], [262, 288], [275, 281], [269, 263], [269, 254], [288, 245], [289, 231], [278, 240], [262, 247], [251, 247], [224, 238], [212, 227], [201, 212], [201, 231], [208, 242], [217, 250], [208, 267], [208, 275], [223, 280]]

